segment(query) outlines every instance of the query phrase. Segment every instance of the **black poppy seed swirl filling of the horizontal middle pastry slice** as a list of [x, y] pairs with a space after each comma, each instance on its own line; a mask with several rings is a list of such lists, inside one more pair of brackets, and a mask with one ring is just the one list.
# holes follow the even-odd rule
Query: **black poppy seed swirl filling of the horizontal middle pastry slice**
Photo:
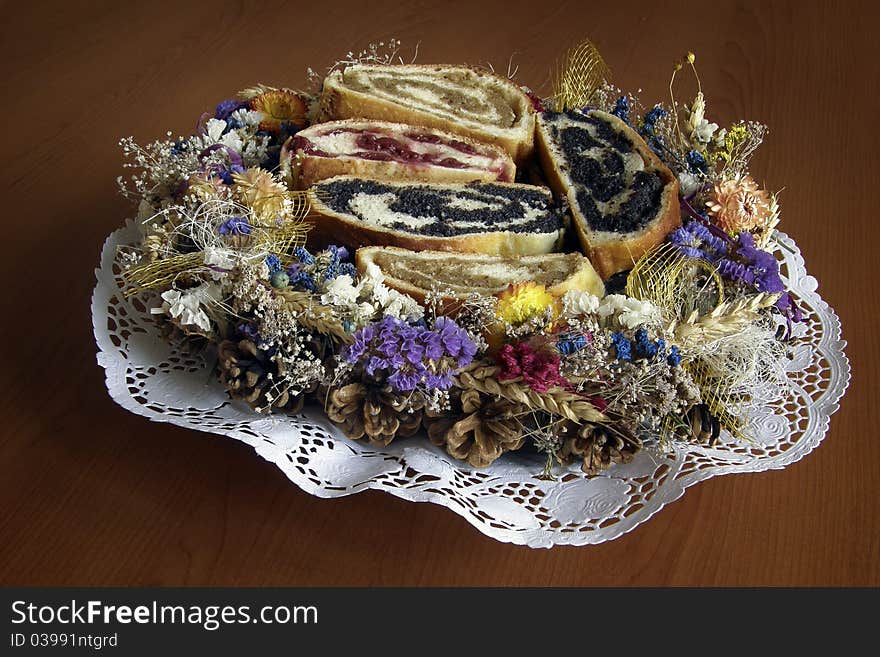
[[563, 212], [539, 190], [471, 183], [456, 188], [392, 185], [373, 180], [330, 180], [318, 185], [331, 210], [373, 226], [427, 237], [510, 231], [550, 233]]

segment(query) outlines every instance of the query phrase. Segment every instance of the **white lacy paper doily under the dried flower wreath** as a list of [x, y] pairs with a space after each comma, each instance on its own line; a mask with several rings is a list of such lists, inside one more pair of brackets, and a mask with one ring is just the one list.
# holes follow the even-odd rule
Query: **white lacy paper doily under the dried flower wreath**
[[339, 497], [373, 488], [433, 502], [499, 541], [530, 547], [601, 543], [645, 522], [699, 481], [784, 468], [819, 444], [849, 383], [840, 321], [816, 292], [816, 279], [807, 274], [793, 240], [779, 234], [787, 247], [781, 270], [806, 321], [796, 327], [791, 345], [792, 396], [757, 418], [760, 442], [722, 434], [711, 448], [644, 450], [632, 463], [596, 477], [576, 466], [560, 469], [557, 481], [537, 479], [543, 459], [519, 453], [474, 470], [424, 436], [378, 449], [343, 436], [319, 408], [297, 417], [265, 417], [231, 402], [206, 356], [165, 342], [144, 300], [125, 300], [119, 293], [117, 246], [137, 238], [131, 223], [107, 238], [92, 296], [98, 363], [120, 406], [157, 422], [241, 440], [313, 495]]

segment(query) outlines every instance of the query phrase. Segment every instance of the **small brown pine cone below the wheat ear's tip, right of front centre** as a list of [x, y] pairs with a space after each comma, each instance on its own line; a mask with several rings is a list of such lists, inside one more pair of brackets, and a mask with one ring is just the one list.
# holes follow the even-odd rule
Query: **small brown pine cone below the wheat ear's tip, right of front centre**
[[563, 462], [583, 459], [581, 470], [589, 475], [599, 474], [615, 463], [629, 463], [642, 447], [638, 438], [619, 427], [612, 432], [597, 424], [564, 422], [559, 437], [562, 447], [557, 457]]

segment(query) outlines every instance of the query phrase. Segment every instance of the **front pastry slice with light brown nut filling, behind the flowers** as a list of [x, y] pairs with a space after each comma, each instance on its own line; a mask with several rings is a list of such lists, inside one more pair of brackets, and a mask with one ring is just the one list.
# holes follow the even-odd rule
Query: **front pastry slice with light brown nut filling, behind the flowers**
[[448, 295], [447, 303], [454, 303], [474, 292], [488, 296], [526, 281], [543, 285], [560, 297], [569, 290], [598, 297], [605, 293], [590, 261], [579, 253], [488, 256], [366, 246], [358, 249], [355, 261], [362, 274], [377, 269], [386, 285], [420, 302], [434, 287]]

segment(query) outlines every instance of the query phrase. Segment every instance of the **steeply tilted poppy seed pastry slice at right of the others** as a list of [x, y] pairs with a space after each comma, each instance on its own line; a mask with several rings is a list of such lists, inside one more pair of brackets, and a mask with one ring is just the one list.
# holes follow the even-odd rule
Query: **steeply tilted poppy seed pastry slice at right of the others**
[[599, 110], [544, 112], [537, 149], [550, 186], [603, 279], [630, 269], [681, 223], [678, 180], [645, 141]]

